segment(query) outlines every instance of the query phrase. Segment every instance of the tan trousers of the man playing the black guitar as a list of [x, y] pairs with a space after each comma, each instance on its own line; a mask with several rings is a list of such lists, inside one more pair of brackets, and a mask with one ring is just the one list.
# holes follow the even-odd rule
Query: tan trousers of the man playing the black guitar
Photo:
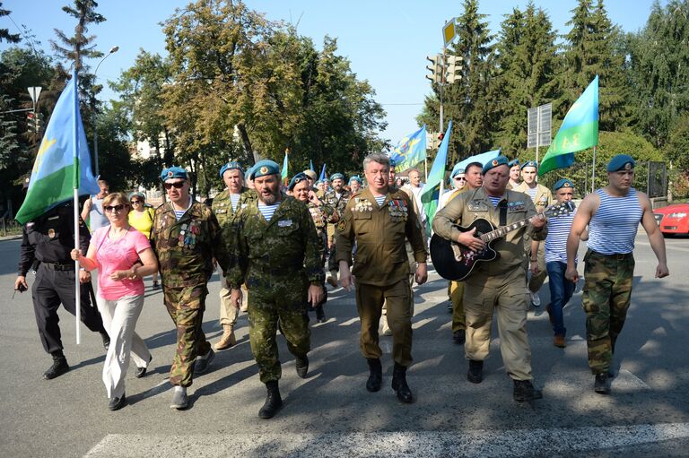
[[465, 281], [467, 359], [483, 361], [491, 343], [493, 311], [497, 311], [502, 362], [515, 380], [531, 379], [531, 349], [527, 335], [526, 272], [521, 267], [500, 276], [475, 273]]

